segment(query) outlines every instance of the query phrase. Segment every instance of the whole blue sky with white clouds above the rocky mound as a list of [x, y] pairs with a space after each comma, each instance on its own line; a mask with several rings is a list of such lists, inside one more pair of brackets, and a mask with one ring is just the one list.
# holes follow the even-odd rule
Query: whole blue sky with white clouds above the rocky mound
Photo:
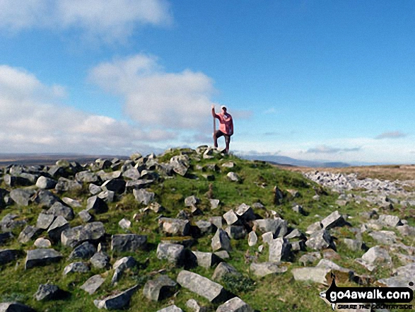
[[[0, 0], [0, 153], [415, 163], [414, 1]], [[219, 139], [220, 146], [224, 145]]]

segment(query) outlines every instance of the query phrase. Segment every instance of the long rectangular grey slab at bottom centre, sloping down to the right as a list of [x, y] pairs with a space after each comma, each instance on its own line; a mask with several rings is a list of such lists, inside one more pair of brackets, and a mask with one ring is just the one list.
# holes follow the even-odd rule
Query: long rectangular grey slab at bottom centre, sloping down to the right
[[187, 270], [177, 275], [177, 283], [213, 303], [223, 301], [228, 296], [222, 285]]

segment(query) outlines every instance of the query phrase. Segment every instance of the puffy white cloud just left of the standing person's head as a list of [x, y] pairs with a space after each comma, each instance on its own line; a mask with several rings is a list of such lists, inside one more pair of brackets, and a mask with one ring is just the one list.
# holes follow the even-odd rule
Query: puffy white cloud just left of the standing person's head
[[214, 81], [201, 72], [168, 73], [155, 57], [137, 54], [99, 64], [89, 80], [122, 96], [124, 112], [140, 125], [202, 132], [211, 128]]

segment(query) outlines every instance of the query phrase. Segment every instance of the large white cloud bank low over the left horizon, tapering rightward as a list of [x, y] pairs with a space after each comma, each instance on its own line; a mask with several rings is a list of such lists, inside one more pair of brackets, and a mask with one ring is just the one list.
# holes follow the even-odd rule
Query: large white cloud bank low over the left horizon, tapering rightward
[[0, 65], [0, 146], [2, 152], [117, 154], [153, 141], [173, 139], [164, 129], [145, 132], [127, 122], [62, 105], [61, 86], [47, 86], [33, 74]]

